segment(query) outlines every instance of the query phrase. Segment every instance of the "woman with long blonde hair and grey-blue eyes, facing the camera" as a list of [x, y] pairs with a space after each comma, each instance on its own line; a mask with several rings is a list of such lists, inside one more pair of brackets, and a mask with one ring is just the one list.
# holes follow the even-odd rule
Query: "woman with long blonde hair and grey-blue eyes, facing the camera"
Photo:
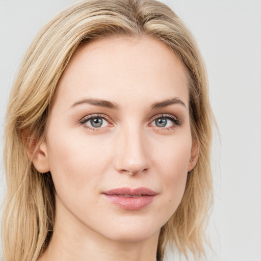
[[8, 107], [5, 260], [204, 254], [207, 80], [156, 1], [83, 1], [38, 34]]

